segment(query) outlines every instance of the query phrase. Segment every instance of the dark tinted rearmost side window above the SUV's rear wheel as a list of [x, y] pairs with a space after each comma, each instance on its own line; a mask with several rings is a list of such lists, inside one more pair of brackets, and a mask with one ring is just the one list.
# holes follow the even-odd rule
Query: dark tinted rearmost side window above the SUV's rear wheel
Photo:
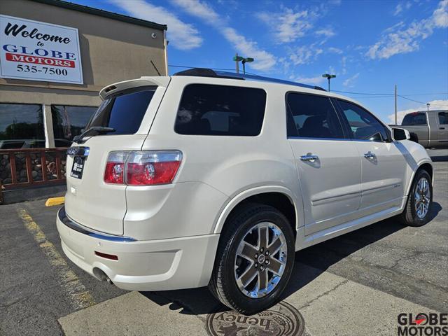
[[190, 84], [183, 90], [174, 130], [179, 134], [255, 137], [266, 92], [251, 87]]

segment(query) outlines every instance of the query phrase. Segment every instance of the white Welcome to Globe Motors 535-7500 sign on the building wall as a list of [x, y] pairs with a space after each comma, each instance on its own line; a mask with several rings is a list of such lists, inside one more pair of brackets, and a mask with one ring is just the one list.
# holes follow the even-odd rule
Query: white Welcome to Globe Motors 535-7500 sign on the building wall
[[0, 77], [83, 84], [78, 29], [0, 15]]

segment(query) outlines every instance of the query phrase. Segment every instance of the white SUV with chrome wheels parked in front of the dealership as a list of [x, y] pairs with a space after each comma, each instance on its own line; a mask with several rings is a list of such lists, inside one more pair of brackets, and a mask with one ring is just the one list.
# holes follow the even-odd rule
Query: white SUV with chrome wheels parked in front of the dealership
[[127, 290], [209, 286], [253, 314], [295, 251], [401, 215], [428, 222], [433, 167], [409, 133], [319, 87], [193, 69], [104, 88], [69, 148], [64, 252]]

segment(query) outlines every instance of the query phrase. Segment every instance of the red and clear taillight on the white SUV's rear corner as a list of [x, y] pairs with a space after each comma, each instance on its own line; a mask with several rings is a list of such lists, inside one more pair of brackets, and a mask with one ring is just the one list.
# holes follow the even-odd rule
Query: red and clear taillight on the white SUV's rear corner
[[172, 183], [181, 162], [181, 151], [111, 152], [106, 162], [104, 182], [128, 186]]

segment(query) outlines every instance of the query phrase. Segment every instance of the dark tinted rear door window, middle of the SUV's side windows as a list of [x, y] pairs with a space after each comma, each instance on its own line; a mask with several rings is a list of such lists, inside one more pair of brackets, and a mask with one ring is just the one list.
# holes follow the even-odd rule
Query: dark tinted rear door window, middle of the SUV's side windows
[[312, 94], [288, 93], [288, 137], [344, 138], [330, 99]]

